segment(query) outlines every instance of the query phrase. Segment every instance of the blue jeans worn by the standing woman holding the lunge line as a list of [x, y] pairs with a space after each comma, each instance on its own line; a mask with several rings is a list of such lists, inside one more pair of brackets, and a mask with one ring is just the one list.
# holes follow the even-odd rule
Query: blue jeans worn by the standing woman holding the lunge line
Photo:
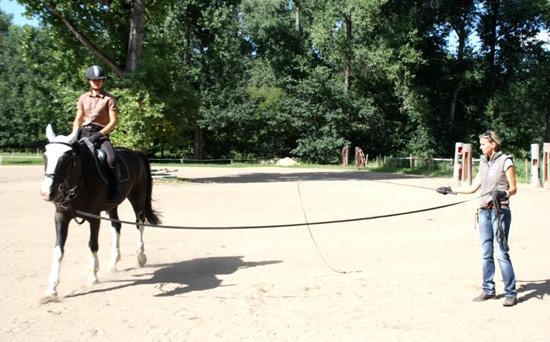
[[516, 296], [516, 276], [510, 260], [508, 247], [508, 234], [510, 233], [510, 223], [512, 221], [512, 213], [509, 208], [501, 208], [500, 220], [502, 229], [504, 230], [503, 246], [496, 237], [498, 220], [495, 209], [480, 209], [479, 211], [479, 238], [481, 241], [481, 257], [483, 266], [483, 283], [481, 285], [483, 291], [488, 294], [495, 294], [495, 260], [493, 258], [494, 249], [500, 266], [500, 272], [504, 281], [504, 290], [506, 296]]

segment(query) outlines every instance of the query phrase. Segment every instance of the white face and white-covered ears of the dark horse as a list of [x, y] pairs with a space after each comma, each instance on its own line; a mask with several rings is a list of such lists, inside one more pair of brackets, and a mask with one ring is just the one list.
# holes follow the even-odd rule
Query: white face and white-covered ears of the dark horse
[[61, 158], [65, 152], [71, 150], [70, 145], [76, 141], [77, 134], [78, 132], [75, 131], [68, 136], [56, 136], [51, 125], [48, 125], [46, 128], [46, 136], [50, 143], [46, 145], [46, 152], [44, 153], [44, 162], [46, 165], [44, 180], [42, 180], [42, 185], [40, 186], [40, 194], [47, 201], [51, 200], [50, 194], [52, 193], [53, 175], [55, 174], [59, 158]]

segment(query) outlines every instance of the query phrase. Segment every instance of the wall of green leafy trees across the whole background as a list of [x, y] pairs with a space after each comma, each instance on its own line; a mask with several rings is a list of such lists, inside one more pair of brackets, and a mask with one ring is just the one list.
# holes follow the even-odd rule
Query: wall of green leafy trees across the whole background
[[[128, 49], [132, 1], [20, 2], [43, 25], [0, 12], [0, 147], [40, 146], [49, 122], [70, 130], [84, 70], [106, 65], [54, 13], [111, 71], [125, 69]], [[145, 4], [138, 68], [108, 82], [118, 145], [334, 163], [344, 145], [371, 158], [448, 157], [488, 128], [516, 156], [550, 140], [550, 54], [536, 38], [550, 26], [545, 0]]]

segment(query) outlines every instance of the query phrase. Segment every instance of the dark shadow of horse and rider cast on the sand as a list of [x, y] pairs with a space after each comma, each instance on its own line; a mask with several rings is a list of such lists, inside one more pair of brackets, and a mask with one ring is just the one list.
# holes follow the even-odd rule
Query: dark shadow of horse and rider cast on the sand
[[175, 296], [193, 291], [215, 289], [222, 285], [222, 279], [217, 276], [231, 274], [243, 268], [277, 264], [281, 260], [243, 261], [242, 256], [210, 257], [181, 261], [177, 263], [150, 265], [148, 268], [158, 268], [152, 273], [137, 275], [143, 279], [111, 280], [101, 284], [124, 283], [121, 285], [76, 291], [66, 298], [83, 296], [91, 293], [115, 291], [126, 287], [154, 284], [161, 291], [155, 297]]

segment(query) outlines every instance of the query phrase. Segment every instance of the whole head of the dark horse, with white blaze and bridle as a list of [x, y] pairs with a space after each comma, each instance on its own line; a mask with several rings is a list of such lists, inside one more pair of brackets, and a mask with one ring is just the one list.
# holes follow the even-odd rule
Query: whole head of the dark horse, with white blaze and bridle
[[81, 157], [76, 139], [78, 131], [68, 136], [53, 132], [52, 126], [46, 128], [48, 144], [44, 152], [44, 180], [40, 194], [47, 201], [64, 200], [67, 192], [74, 192], [82, 174]]

